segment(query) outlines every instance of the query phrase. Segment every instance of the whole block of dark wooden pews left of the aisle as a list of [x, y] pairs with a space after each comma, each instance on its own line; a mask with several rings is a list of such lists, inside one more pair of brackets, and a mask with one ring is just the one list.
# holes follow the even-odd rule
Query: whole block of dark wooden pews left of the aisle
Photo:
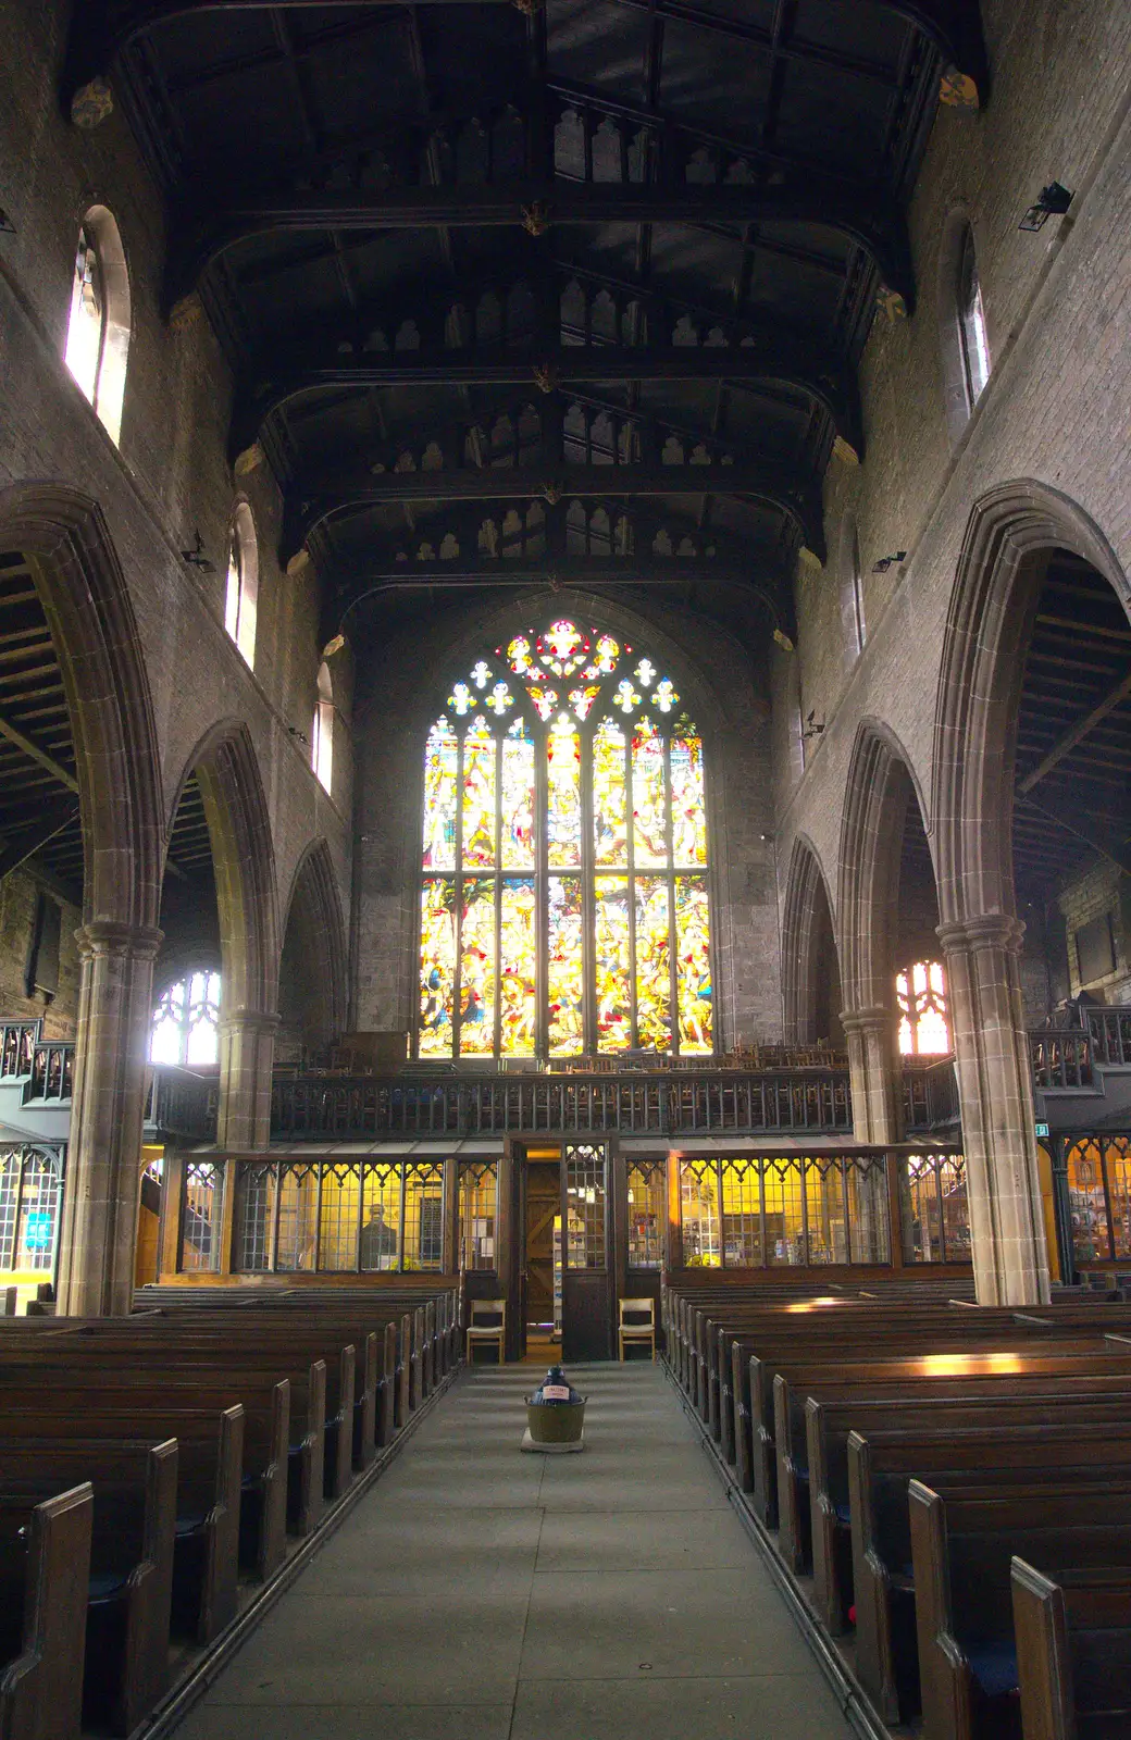
[[458, 1300], [146, 1288], [0, 1321], [0, 1735], [129, 1735], [461, 1355]]

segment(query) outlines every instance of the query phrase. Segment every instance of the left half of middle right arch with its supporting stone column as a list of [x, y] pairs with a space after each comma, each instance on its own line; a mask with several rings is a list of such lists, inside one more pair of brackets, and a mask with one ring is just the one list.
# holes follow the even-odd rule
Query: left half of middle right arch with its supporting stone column
[[887, 726], [867, 719], [856, 733], [849, 762], [837, 889], [844, 987], [840, 1020], [853, 1077], [853, 1124], [861, 1141], [896, 1141], [903, 1126], [894, 941], [900, 861], [910, 814], [922, 821], [922, 800], [908, 757]]

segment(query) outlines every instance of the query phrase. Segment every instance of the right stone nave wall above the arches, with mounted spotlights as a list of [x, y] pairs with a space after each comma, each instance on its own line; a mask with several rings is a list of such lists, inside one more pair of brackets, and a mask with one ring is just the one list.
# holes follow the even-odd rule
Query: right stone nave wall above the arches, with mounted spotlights
[[[833, 458], [825, 489], [830, 564], [799, 576], [797, 654], [774, 654], [778, 879], [797, 835], [813, 840], [833, 903], [849, 759], [863, 722], [886, 724], [933, 797], [934, 710], [947, 609], [974, 503], [1035, 478], [1094, 520], [1131, 566], [1126, 405], [1131, 398], [1131, 151], [1126, 70], [1131, 12], [1119, 0], [983, 0], [992, 59], [981, 113], [940, 108], [910, 205], [919, 306], [877, 315], [861, 393], [867, 451]], [[1039, 233], [1018, 221], [1058, 179], [1072, 211]], [[994, 372], [954, 435], [947, 350], [954, 343], [955, 214], [973, 224]], [[950, 226], [950, 228], [948, 228]], [[867, 646], [846, 646], [849, 522], [860, 536]], [[901, 564], [873, 572], [898, 550]], [[793, 748], [799, 710], [825, 731]]]

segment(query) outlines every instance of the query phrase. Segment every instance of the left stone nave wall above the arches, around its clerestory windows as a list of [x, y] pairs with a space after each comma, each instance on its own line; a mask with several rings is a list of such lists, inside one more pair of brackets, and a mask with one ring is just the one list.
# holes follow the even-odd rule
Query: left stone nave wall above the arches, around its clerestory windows
[[[318, 837], [348, 908], [348, 746], [336, 757], [331, 799], [303, 741], [320, 661], [315, 576], [280, 571], [280, 496], [268, 466], [235, 477], [228, 463], [231, 379], [202, 308], [190, 299], [164, 318], [162, 200], [122, 113], [87, 132], [59, 111], [70, 10], [68, 0], [14, 0], [0, 10], [0, 64], [19, 68], [0, 80], [0, 205], [16, 226], [0, 237], [0, 538], [7, 485], [66, 482], [97, 505], [137, 621], [167, 823], [200, 745], [244, 726], [266, 793], [280, 917]], [[120, 447], [63, 364], [78, 226], [94, 204], [118, 223], [130, 278]], [[228, 527], [240, 498], [254, 515], [259, 559], [254, 672], [223, 625]], [[197, 534], [209, 569], [181, 555]], [[12, 948], [23, 971], [23, 943]], [[7, 994], [16, 957], [7, 943], [0, 954]]]

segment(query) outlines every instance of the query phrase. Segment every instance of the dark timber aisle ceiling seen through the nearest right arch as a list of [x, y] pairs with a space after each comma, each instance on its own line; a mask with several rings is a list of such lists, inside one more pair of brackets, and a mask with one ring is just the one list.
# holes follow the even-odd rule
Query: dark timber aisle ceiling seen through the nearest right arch
[[1018, 903], [1047, 903], [1101, 860], [1131, 872], [1131, 623], [1103, 576], [1058, 550], [1018, 710]]

